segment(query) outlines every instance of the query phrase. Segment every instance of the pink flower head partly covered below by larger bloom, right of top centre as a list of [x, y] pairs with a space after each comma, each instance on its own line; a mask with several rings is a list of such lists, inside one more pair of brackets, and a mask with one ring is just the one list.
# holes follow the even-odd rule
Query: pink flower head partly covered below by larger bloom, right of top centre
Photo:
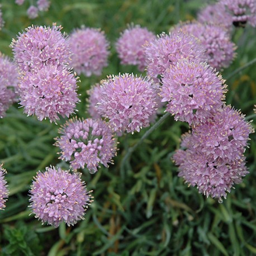
[[195, 37], [182, 31], [169, 35], [161, 34], [157, 39], [145, 45], [147, 74], [155, 82], [170, 65], [176, 65], [179, 59], [206, 61], [205, 49]]

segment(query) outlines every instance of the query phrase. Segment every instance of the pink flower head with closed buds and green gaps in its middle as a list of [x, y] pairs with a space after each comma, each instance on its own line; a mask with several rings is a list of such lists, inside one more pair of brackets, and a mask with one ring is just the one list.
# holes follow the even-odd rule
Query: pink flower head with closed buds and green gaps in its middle
[[70, 120], [60, 129], [55, 145], [61, 149], [60, 159], [70, 161], [73, 169], [97, 172], [99, 164], [108, 167], [116, 154], [116, 139], [105, 121]]

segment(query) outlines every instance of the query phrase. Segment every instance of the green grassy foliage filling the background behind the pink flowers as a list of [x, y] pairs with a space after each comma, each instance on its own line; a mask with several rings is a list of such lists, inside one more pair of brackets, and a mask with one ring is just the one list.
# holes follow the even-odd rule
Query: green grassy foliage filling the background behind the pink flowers
[[[0, 31], [0, 51], [12, 56], [12, 38], [31, 24], [63, 26], [69, 34], [86, 25], [106, 32], [111, 42], [109, 65], [101, 77], [80, 76], [79, 117], [86, 113], [87, 90], [108, 74], [135, 73], [136, 67], [122, 66], [115, 41], [127, 23], [140, 24], [159, 34], [168, 32], [179, 21], [192, 20], [206, 1], [52, 0], [49, 12], [31, 21], [26, 16], [29, 1], [17, 6], [2, 1], [5, 26]], [[233, 64], [221, 74], [227, 79], [226, 102], [253, 117], [256, 103], [256, 64], [232, 74], [256, 58], [255, 29], [236, 29], [233, 40], [238, 49]], [[96, 174], [83, 170], [82, 179], [93, 189], [94, 202], [86, 219], [74, 227], [58, 229], [41, 225], [28, 208], [29, 189], [37, 170], [49, 165], [69, 168], [58, 159], [53, 146], [58, 125], [27, 117], [18, 104], [0, 120], [0, 159], [7, 169], [10, 197], [0, 212], [1, 255], [255, 255], [256, 254], [256, 136], [246, 150], [249, 174], [222, 204], [187, 187], [177, 176], [171, 156], [179, 148], [180, 137], [188, 126], [168, 117], [141, 143], [121, 166], [127, 150], [148, 129], [127, 134], [118, 140], [115, 165]], [[159, 115], [161, 116], [161, 115]], [[250, 118], [251, 116], [251, 118]], [[255, 119], [253, 126], [255, 127]]]

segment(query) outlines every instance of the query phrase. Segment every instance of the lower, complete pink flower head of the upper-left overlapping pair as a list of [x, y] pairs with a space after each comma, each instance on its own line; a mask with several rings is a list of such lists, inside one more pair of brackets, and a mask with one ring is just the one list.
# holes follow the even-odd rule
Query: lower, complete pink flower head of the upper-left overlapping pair
[[28, 116], [38, 120], [49, 118], [51, 122], [59, 116], [69, 117], [79, 101], [77, 78], [70, 70], [61, 66], [43, 66], [37, 72], [27, 72], [18, 87], [20, 104]]

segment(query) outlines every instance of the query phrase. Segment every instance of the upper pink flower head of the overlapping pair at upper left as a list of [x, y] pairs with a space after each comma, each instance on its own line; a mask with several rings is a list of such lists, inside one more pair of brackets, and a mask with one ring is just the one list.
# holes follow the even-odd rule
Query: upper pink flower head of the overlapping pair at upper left
[[11, 48], [20, 72], [40, 70], [45, 65], [66, 65], [70, 48], [61, 26], [28, 27], [12, 40]]

